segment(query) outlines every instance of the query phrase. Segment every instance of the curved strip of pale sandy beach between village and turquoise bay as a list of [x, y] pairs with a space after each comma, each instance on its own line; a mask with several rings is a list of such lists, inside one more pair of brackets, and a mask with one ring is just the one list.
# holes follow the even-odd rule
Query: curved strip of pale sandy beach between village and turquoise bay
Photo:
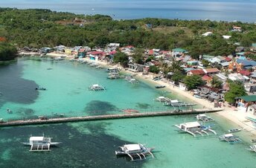
[[[20, 54], [20, 55], [25, 55], [29, 56], [31, 53], [27, 54]], [[34, 53], [32, 53], [33, 56], [35, 56]], [[37, 56], [39, 56], [37, 54]], [[65, 56], [65, 59], [72, 59], [74, 56], [67, 56], [66, 54], [59, 54], [59, 53], [50, 53], [46, 54], [45, 56], [49, 57], [57, 57], [57, 56]], [[208, 109], [213, 109], [214, 108], [214, 103], [209, 102], [208, 100], [202, 99], [202, 98], [196, 98], [193, 97], [193, 95], [190, 93], [190, 91], [182, 91], [179, 89], [176, 85], [171, 84], [168, 80], [166, 79], [161, 79], [154, 81], [152, 80], [153, 77], [156, 77], [157, 74], [147, 74], [144, 75], [142, 72], [132, 72], [128, 71], [125, 68], [121, 67], [121, 65], [110, 65], [108, 62], [103, 62], [103, 61], [95, 61], [92, 59], [88, 58], [82, 58], [88, 62], [95, 62], [97, 65], [103, 66], [103, 68], [119, 68], [121, 69], [121, 72], [124, 72], [126, 74], [133, 74], [135, 75], [135, 78], [138, 80], [144, 80], [146, 83], [151, 83], [153, 85], [165, 85], [166, 87], [164, 89], [167, 89], [168, 91], [175, 92], [176, 94], [181, 95], [182, 97], [188, 98], [188, 100], [191, 100], [194, 103], [197, 103], [198, 105], [202, 106], [202, 108], [208, 108]], [[252, 123], [246, 119], [246, 117], [255, 117], [252, 114], [248, 114], [246, 112], [240, 112], [237, 109], [234, 109], [232, 107], [229, 107], [227, 103], [224, 103], [224, 105], [221, 107], [223, 108], [222, 112], [216, 112], [215, 114], [219, 117], [223, 117], [230, 121], [231, 123], [234, 123], [237, 127], [240, 127], [243, 130], [246, 130], [246, 132], [249, 133], [249, 135], [256, 135], [256, 129], [252, 125]]]

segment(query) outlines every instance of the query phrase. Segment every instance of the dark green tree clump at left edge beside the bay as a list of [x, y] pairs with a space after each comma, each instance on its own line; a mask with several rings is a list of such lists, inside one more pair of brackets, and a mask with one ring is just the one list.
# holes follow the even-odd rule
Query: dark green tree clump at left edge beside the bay
[[0, 61], [10, 61], [16, 57], [16, 48], [7, 42], [0, 42]]

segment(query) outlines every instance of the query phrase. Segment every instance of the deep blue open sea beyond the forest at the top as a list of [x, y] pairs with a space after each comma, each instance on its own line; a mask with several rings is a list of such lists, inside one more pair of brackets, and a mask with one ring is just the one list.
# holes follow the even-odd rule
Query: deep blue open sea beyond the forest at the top
[[211, 19], [256, 22], [256, 1], [241, 0], [8, 0], [0, 7], [47, 8], [79, 14], [106, 14], [113, 19]]

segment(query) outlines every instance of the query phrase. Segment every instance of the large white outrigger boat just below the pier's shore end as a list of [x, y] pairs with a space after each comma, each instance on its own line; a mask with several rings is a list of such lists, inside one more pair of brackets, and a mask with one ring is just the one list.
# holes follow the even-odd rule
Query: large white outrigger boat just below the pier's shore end
[[179, 128], [179, 131], [181, 132], [187, 132], [191, 135], [193, 135], [194, 137], [196, 137], [196, 135], [210, 135], [214, 134], [217, 135], [217, 133], [211, 129], [210, 126], [202, 126], [200, 123], [198, 123], [197, 121], [195, 122], [189, 122], [189, 123], [180, 123], [179, 125], [175, 125], [177, 128]]

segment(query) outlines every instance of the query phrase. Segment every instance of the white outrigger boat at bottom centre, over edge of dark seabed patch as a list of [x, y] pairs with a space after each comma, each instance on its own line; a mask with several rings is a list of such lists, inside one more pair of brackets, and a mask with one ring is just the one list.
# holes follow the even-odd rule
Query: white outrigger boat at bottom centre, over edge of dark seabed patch
[[151, 155], [154, 158], [153, 153], [151, 152], [154, 148], [148, 148], [142, 144], [127, 144], [124, 146], [119, 146], [118, 150], [115, 151], [115, 155], [122, 156], [128, 155], [131, 161], [139, 161], [147, 159], [147, 155]]

